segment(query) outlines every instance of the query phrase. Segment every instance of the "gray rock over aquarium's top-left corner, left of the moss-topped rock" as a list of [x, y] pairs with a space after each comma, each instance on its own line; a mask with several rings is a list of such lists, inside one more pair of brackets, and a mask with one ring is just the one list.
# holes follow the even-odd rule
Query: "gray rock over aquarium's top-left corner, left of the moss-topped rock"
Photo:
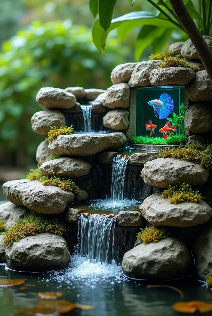
[[160, 64], [162, 64], [162, 60], [147, 60], [138, 63], [132, 72], [129, 83], [130, 86], [150, 86], [150, 73], [152, 72], [152, 70], [159, 68]]

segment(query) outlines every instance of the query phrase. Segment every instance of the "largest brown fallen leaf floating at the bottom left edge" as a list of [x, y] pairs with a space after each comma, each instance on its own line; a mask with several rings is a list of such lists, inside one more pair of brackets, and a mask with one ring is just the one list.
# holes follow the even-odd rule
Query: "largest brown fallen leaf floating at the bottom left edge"
[[19, 314], [64, 314], [70, 313], [75, 309], [80, 308], [82, 310], [94, 309], [94, 306], [89, 305], [76, 305], [70, 301], [63, 300], [38, 300], [38, 303], [34, 307], [22, 308], [15, 311]]

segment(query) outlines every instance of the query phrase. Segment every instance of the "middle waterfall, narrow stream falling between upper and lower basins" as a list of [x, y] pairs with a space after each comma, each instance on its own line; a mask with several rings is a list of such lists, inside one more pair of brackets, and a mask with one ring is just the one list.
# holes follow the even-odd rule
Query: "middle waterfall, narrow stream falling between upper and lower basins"
[[129, 156], [115, 156], [113, 158], [113, 173], [111, 184], [111, 202], [123, 201], [124, 199], [124, 179]]

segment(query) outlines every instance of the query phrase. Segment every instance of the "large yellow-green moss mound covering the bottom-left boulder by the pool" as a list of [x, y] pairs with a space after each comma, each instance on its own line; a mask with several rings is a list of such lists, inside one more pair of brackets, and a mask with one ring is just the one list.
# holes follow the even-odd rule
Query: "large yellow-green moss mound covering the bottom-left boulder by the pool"
[[14, 242], [26, 236], [35, 236], [39, 233], [50, 233], [62, 236], [67, 233], [66, 225], [56, 218], [48, 219], [43, 214], [31, 211], [31, 214], [15, 222], [8, 228], [3, 237], [3, 245], [10, 247]]

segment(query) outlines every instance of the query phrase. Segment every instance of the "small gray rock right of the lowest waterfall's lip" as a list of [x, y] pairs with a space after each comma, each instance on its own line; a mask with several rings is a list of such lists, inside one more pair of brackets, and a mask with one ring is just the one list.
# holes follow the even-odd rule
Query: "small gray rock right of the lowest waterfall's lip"
[[142, 216], [137, 210], [126, 210], [119, 212], [116, 222], [116, 226], [141, 226]]

